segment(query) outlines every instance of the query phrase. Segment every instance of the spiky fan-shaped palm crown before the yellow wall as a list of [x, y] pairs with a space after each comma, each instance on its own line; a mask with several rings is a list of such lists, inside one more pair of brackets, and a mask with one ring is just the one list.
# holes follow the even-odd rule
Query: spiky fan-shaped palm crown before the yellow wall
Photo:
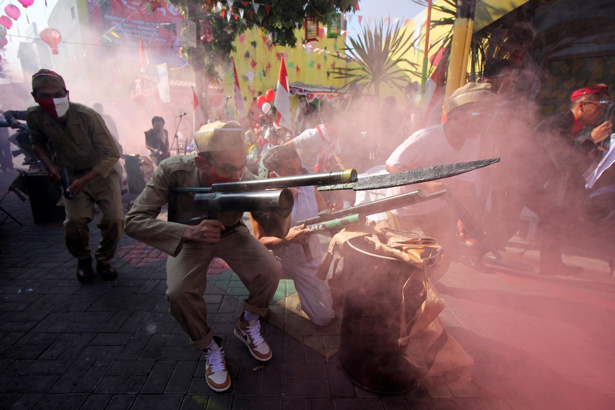
[[[408, 84], [408, 73], [416, 74], [408, 65], [415, 68], [404, 56], [415, 46], [410, 36], [404, 39], [400, 32], [402, 26], [396, 23], [391, 26], [378, 22], [375, 28], [363, 25], [359, 37], [350, 36], [348, 41], [352, 47], [342, 49], [344, 53], [337, 57], [350, 62], [349, 65], [335, 68], [335, 78], [346, 79], [347, 83], [341, 90], [368, 92], [373, 90], [379, 97], [382, 84], [395, 87], [403, 92]], [[420, 75], [420, 74], [419, 74]]]

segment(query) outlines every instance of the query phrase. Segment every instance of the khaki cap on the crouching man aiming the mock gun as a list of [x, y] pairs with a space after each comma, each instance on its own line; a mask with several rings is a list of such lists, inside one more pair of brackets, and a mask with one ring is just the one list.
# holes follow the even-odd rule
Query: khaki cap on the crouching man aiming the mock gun
[[245, 151], [244, 131], [237, 121], [205, 124], [194, 133], [197, 152]]

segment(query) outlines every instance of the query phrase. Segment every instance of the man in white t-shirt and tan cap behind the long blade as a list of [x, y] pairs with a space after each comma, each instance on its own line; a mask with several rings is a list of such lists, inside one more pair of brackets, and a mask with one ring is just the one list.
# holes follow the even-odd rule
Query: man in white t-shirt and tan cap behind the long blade
[[[413, 133], [386, 160], [385, 168], [393, 173], [414, 168], [452, 164], [478, 159], [480, 141], [489, 124], [492, 112], [488, 101], [491, 84], [469, 83], [456, 90], [445, 102], [447, 120], [440, 125], [423, 128]], [[470, 172], [446, 179], [423, 184], [389, 189], [388, 195], [423, 189], [425, 194], [451, 189], [466, 207], [472, 208], [475, 200], [474, 182], [477, 172]], [[443, 197], [416, 203], [387, 213], [392, 229], [415, 231], [434, 237], [442, 245], [444, 257], [431, 272], [431, 279], [437, 281], [450, 265], [450, 255], [456, 243], [456, 221]]]

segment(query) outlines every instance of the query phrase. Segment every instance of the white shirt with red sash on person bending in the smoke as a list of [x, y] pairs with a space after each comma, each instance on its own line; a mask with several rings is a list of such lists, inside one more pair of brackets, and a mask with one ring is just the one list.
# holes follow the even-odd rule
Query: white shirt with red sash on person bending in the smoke
[[320, 124], [319, 128], [322, 130], [322, 135], [318, 128], [310, 128], [293, 138], [301, 165], [310, 172], [314, 172], [316, 164], [323, 157], [331, 154], [339, 155], [341, 152], [338, 138], [327, 132], [325, 124]]

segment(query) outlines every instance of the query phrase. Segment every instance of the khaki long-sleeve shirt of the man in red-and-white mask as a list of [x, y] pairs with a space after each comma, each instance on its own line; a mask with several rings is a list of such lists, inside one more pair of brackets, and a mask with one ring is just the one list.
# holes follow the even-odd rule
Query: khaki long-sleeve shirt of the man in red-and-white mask
[[44, 112], [40, 106], [31, 106], [26, 112], [33, 145], [54, 143], [54, 164], [67, 168], [69, 173], [92, 169], [106, 178], [119, 159], [119, 150], [113, 136], [98, 112], [78, 103], [69, 103], [65, 124]]

